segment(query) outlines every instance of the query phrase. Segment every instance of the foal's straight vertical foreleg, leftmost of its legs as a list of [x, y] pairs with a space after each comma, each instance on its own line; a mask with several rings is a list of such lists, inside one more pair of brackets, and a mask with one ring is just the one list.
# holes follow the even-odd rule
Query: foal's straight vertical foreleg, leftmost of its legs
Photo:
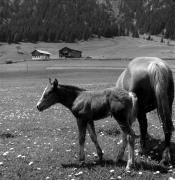
[[85, 143], [85, 137], [86, 137], [86, 127], [87, 122], [83, 121], [82, 119], [77, 120], [78, 125], [78, 131], [79, 131], [79, 161], [81, 164], [85, 161], [85, 153], [84, 153], [84, 143]]

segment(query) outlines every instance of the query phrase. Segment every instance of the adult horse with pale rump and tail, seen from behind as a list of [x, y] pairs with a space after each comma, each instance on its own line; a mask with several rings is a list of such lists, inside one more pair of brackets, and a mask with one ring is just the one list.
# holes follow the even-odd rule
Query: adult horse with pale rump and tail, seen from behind
[[170, 161], [170, 141], [173, 131], [172, 104], [174, 81], [170, 67], [157, 57], [137, 57], [119, 76], [116, 87], [134, 92], [138, 97], [138, 121], [141, 133], [141, 150], [146, 148], [146, 113], [157, 109], [163, 125], [165, 147], [161, 163]]

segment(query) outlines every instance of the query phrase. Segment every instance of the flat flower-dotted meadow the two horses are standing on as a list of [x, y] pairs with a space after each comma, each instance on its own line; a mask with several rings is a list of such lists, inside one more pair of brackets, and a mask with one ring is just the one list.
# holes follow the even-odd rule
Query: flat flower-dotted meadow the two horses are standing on
[[[78, 132], [73, 115], [57, 104], [43, 113], [36, 103], [48, 83], [57, 77], [60, 83], [87, 89], [115, 85], [128, 61], [48, 61], [22, 62], [0, 66], [0, 179], [2, 180], [106, 180], [175, 178], [175, 137], [172, 138], [172, 167], [158, 165], [163, 131], [155, 112], [149, 114], [147, 157], [138, 155], [136, 169], [124, 171], [126, 161], [115, 164], [120, 146], [120, 130], [112, 118], [95, 123], [104, 162], [96, 163], [96, 151], [89, 135], [86, 140], [86, 165], [78, 166]], [[174, 61], [169, 61], [174, 67]], [[174, 109], [174, 108], [173, 108]], [[174, 113], [173, 113], [174, 120]], [[138, 124], [134, 129], [139, 133]], [[125, 160], [126, 160], [125, 154]]]

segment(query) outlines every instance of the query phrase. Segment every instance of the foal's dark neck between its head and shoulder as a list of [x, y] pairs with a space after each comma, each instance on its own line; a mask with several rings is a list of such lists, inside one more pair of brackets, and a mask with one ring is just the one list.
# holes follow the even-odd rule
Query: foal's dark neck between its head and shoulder
[[59, 103], [71, 109], [75, 99], [81, 93], [81, 90], [73, 90], [71, 88], [58, 89]]

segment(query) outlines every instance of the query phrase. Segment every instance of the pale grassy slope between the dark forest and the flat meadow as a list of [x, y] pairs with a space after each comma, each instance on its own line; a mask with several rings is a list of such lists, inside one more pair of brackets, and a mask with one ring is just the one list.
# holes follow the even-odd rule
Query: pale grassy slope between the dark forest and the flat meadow
[[[171, 42], [174, 45], [174, 42]], [[17, 53], [17, 46], [21, 52]], [[58, 50], [68, 46], [83, 52], [83, 57], [93, 58], [133, 58], [136, 56], [158, 56], [162, 58], [174, 58], [174, 46], [167, 43], [160, 43], [160, 38], [154, 37], [154, 41], [145, 39], [133, 39], [132, 37], [116, 37], [110, 39], [92, 39], [78, 43], [20, 43], [4, 44], [0, 46], [0, 60], [28, 60], [31, 59], [31, 52], [34, 49], [42, 49], [52, 53], [52, 58], [58, 58]]]

